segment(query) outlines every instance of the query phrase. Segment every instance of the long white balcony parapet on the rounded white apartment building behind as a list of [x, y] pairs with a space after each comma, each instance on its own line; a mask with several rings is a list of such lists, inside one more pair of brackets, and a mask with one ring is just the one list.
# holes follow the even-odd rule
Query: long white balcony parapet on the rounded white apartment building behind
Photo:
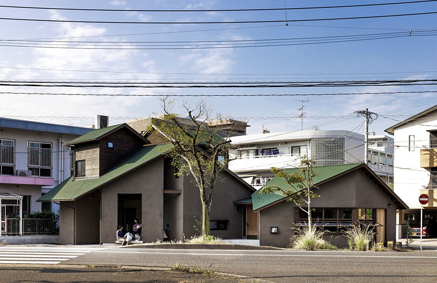
[[299, 164], [299, 154], [260, 155], [238, 157], [229, 162], [229, 169], [234, 172], [248, 172], [253, 170], [268, 171], [271, 167], [289, 167]]

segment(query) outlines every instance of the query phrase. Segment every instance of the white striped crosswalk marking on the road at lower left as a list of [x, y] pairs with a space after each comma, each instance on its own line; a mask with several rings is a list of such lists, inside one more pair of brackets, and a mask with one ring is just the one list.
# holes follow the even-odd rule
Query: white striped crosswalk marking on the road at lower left
[[102, 248], [1, 247], [0, 264], [59, 264]]

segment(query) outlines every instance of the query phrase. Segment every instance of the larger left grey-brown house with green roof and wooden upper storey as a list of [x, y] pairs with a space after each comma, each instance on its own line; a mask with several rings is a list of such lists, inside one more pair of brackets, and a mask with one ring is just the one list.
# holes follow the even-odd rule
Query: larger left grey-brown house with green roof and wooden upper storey
[[[165, 156], [170, 144], [150, 144], [126, 124], [93, 130], [67, 143], [74, 148], [74, 175], [38, 201], [59, 202], [60, 243], [114, 243], [119, 224], [143, 224], [142, 240], [182, 240], [198, 232], [202, 212], [191, 176], [175, 175]], [[246, 236], [246, 210], [234, 201], [254, 189], [230, 171], [219, 173], [211, 206], [211, 234], [223, 239]], [[249, 214], [255, 214], [249, 211]], [[256, 235], [257, 236], [257, 235]]]

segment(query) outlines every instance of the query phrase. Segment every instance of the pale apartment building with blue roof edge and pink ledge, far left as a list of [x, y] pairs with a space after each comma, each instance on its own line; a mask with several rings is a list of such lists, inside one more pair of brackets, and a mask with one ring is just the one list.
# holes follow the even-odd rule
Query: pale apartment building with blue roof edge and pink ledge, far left
[[0, 118], [0, 218], [18, 212], [16, 201], [7, 198], [10, 194], [22, 196], [24, 214], [41, 209], [56, 212], [58, 205], [35, 201], [71, 175], [72, 159], [64, 143], [90, 130]]

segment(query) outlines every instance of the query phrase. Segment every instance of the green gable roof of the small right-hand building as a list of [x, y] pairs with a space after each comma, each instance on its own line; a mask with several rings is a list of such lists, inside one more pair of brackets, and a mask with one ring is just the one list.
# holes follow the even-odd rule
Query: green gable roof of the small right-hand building
[[[319, 186], [332, 179], [335, 179], [339, 176], [342, 176], [346, 173], [352, 172], [360, 168], [364, 170], [368, 170], [371, 173], [374, 180], [378, 182], [379, 185], [381, 185], [380, 187], [385, 190], [387, 195], [389, 195], [398, 206], [403, 207], [403, 209], [408, 208], [408, 206], [390, 188], [388, 188], [387, 184], [384, 183], [375, 173], [373, 173], [373, 171], [364, 163], [313, 167], [313, 170], [315, 172], [319, 172], [319, 175], [313, 178], [313, 182], [315, 186]], [[287, 174], [290, 174], [290, 173], [297, 172], [298, 170], [299, 169], [297, 168], [286, 169], [285, 172]], [[285, 178], [279, 178], [279, 177], [274, 177], [273, 179], [271, 179], [266, 185], [263, 186], [263, 188], [269, 186], [276, 186], [279, 188], [290, 189], [290, 185], [286, 183]], [[262, 195], [260, 195], [258, 191], [254, 192], [252, 194], [253, 211], [262, 210], [264, 208], [267, 208], [273, 204], [282, 202], [284, 200], [286, 200], [286, 197], [284, 197], [282, 192], [276, 191], [273, 193], [262, 194]]]

